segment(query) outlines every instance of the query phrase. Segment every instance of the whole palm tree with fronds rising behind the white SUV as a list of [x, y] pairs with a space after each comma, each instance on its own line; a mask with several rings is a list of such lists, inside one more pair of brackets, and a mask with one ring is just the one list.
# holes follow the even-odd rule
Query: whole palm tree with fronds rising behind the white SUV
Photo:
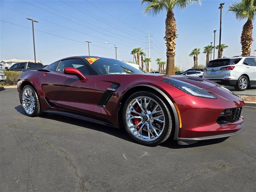
[[250, 56], [252, 47], [252, 21], [256, 15], [256, 0], [242, 0], [235, 2], [228, 8], [234, 12], [238, 20], [247, 19], [241, 34], [242, 55]]

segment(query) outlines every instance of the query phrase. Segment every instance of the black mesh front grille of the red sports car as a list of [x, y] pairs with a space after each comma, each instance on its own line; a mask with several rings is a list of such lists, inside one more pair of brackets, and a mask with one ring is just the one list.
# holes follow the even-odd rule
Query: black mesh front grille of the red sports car
[[217, 119], [217, 123], [223, 125], [238, 121], [241, 117], [242, 110], [242, 107], [223, 110]]

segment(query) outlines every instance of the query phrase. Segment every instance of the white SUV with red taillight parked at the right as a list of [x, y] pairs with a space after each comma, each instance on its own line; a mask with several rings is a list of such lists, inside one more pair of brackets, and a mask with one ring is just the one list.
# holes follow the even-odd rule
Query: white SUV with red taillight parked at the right
[[212, 60], [204, 68], [203, 78], [235, 86], [238, 91], [246, 90], [256, 84], [256, 57], [234, 56]]

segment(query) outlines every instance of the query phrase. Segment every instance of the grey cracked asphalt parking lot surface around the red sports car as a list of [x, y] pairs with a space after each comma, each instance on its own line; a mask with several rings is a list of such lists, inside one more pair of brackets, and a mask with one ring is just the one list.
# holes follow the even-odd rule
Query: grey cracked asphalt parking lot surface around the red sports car
[[0, 91], [0, 191], [256, 191], [256, 109], [244, 132], [156, 147], [123, 130], [47, 114], [25, 116], [17, 90]]

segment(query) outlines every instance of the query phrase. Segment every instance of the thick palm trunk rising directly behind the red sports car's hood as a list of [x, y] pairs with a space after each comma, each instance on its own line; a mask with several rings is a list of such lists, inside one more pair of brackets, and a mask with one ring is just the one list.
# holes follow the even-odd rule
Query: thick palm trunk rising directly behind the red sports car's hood
[[165, 20], [165, 36], [166, 40], [166, 74], [174, 75], [174, 57], [175, 57], [175, 40], [178, 37], [177, 28], [176, 28], [176, 20], [174, 18], [174, 13], [172, 10], [168, 10]]

